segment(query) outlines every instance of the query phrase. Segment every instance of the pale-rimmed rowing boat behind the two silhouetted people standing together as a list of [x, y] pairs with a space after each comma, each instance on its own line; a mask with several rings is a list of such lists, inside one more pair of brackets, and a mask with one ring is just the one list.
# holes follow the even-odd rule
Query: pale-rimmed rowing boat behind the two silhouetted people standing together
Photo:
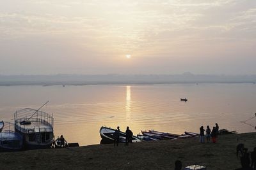
[[[111, 129], [110, 127], [100, 127], [100, 137], [102, 139], [102, 143], [114, 143], [114, 132], [115, 129]], [[126, 134], [125, 132], [119, 132], [119, 142], [125, 143]], [[132, 143], [141, 142], [141, 140], [137, 136], [132, 135]]]

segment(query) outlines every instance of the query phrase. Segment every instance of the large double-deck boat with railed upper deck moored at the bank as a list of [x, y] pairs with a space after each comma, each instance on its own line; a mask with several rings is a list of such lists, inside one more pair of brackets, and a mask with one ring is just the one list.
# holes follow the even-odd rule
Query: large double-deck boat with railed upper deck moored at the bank
[[15, 131], [22, 135], [25, 149], [51, 148], [53, 117], [43, 111], [25, 108], [15, 111]]

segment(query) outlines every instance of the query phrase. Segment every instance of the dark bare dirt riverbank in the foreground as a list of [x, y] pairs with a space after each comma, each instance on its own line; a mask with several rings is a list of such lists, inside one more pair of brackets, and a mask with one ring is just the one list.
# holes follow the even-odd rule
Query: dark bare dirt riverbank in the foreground
[[0, 169], [174, 169], [200, 164], [209, 169], [236, 169], [236, 145], [244, 143], [249, 152], [256, 147], [256, 133], [228, 134], [218, 143], [199, 143], [198, 138], [91, 145], [77, 148], [28, 150], [0, 153]]

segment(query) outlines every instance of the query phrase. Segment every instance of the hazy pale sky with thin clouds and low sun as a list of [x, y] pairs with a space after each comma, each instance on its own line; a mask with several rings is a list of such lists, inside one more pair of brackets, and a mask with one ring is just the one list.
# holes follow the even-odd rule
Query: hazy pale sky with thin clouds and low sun
[[256, 74], [255, 0], [1, 0], [0, 74]]

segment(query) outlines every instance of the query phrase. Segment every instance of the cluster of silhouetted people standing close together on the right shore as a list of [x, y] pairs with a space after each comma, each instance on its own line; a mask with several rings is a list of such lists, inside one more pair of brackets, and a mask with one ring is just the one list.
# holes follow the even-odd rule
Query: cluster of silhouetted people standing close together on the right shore
[[[204, 143], [204, 126], [200, 127], [200, 143]], [[218, 132], [219, 132], [219, 125], [216, 123], [214, 127], [212, 127], [212, 130], [210, 129], [209, 125], [207, 125], [206, 128], [206, 142], [210, 143], [210, 138], [212, 138], [212, 143], [217, 142]]]

